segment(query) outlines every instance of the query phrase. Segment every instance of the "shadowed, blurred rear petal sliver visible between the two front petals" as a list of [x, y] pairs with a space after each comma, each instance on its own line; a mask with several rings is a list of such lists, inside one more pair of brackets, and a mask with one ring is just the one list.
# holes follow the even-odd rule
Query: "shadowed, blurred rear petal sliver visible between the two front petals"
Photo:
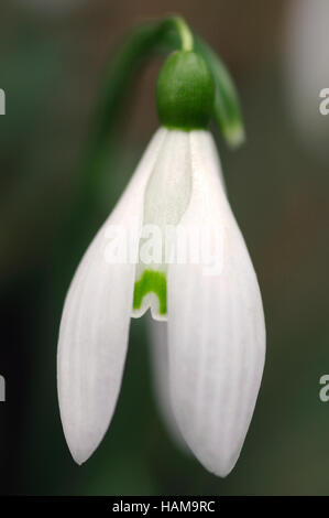
[[187, 446], [177, 427], [171, 401], [167, 323], [156, 322], [153, 317], [150, 317], [147, 327], [151, 342], [151, 359], [153, 364], [153, 385], [158, 408], [168, 433], [179, 447], [186, 450]]

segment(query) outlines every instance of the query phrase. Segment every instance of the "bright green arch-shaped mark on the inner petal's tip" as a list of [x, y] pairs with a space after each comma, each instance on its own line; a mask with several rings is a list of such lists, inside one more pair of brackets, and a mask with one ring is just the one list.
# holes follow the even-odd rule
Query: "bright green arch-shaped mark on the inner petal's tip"
[[164, 272], [144, 270], [141, 279], [135, 281], [133, 293], [133, 309], [140, 310], [142, 301], [147, 293], [155, 293], [158, 299], [158, 313], [167, 313], [167, 280]]

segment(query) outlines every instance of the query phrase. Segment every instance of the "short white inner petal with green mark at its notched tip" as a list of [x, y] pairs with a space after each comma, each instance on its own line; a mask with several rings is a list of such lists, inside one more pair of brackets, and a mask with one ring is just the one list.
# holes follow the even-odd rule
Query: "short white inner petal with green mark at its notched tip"
[[166, 279], [172, 235], [191, 196], [191, 158], [189, 133], [168, 131], [150, 175], [144, 194], [143, 228], [132, 316], [151, 309], [153, 319], [166, 320]]

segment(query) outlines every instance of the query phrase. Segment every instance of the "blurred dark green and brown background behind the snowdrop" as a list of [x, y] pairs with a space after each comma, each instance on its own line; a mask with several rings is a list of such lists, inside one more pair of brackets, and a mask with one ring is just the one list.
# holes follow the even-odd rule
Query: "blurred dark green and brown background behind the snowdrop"
[[[169, 438], [154, 396], [144, 319], [133, 321], [109, 433], [74, 464], [56, 397], [65, 292], [157, 127], [154, 60], [109, 136], [109, 166], [79, 174], [99, 86], [131, 24], [178, 12], [235, 78], [246, 143], [217, 134], [233, 211], [267, 324], [263, 384], [226, 479]], [[1, 0], [0, 493], [3, 495], [326, 495], [329, 493], [329, 87], [327, 0]], [[90, 188], [92, 185], [92, 188]], [[241, 380], [243, 384], [243, 380]]]

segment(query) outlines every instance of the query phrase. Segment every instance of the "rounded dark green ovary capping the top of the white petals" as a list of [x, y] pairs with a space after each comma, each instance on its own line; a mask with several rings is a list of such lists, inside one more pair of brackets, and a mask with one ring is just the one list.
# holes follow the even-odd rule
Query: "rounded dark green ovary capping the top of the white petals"
[[215, 83], [205, 60], [193, 51], [169, 55], [156, 88], [161, 123], [189, 131], [208, 127], [215, 102]]

